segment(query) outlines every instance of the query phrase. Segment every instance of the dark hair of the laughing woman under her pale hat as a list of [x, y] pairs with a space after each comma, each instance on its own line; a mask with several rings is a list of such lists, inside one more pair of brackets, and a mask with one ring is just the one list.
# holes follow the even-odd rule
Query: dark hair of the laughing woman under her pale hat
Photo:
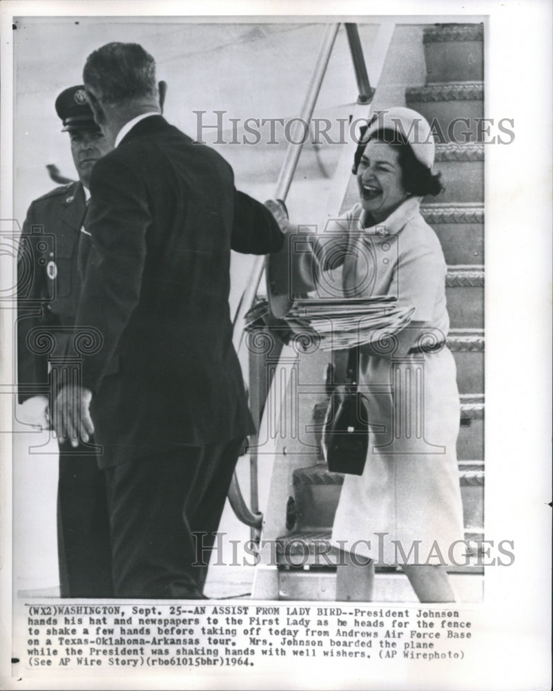
[[[366, 131], [366, 127], [361, 128], [360, 142], [357, 145], [353, 157], [353, 168], [351, 169], [354, 175], [357, 173], [363, 151], [367, 146], [367, 141], [364, 140]], [[443, 190], [443, 184], [440, 181], [441, 173], [431, 173], [429, 168], [415, 158], [413, 149], [400, 132], [391, 129], [379, 129], [371, 136], [371, 141], [398, 146], [399, 163], [402, 171], [401, 182], [406, 192], [417, 197], [424, 197], [427, 194], [436, 196]]]

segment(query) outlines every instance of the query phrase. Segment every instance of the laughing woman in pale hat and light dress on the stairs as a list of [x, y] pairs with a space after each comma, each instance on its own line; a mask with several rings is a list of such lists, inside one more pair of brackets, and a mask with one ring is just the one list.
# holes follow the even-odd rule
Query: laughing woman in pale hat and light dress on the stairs
[[[380, 111], [353, 163], [359, 202], [322, 236], [302, 235], [302, 248], [311, 251], [294, 255], [293, 243], [285, 243], [270, 259], [273, 278], [284, 272], [296, 286], [301, 277], [298, 292], [327, 296], [324, 272], [341, 266], [341, 298], [387, 296], [414, 309], [409, 325], [393, 337], [358, 346], [358, 376], [352, 376], [372, 431], [365, 469], [345, 476], [333, 523], [331, 541], [342, 551], [337, 600], [370, 600], [375, 562], [400, 565], [422, 602], [456, 598], [445, 567], [426, 557], [431, 545], [447, 553], [463, 538], [459, 397], [445, 347], [446, 265], [419, 210], [423, 196], [441, 189], [431, 171], [434, 150], [422, 115], [408, 108]], [[289, 236], [297, 234], [278, 205], [270, 208]]]

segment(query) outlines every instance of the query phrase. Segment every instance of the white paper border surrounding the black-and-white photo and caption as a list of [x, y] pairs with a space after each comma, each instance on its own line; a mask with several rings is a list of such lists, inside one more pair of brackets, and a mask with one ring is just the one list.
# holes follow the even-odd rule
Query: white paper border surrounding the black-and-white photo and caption
[[[552, 6], [545, 0], [465, 0], [462, 4], [447, 0], [394, 0], [375, 1], [370, 9], [371, 17], [394, 14], [398, 18], [422, 20], [449, 15], [452, 21], [484, 17], [485, 115], [514, 120], [514, 142], [508, 146], [487, 146], [485, 156], [485, 521], [486, 536], [490, 539], [514, 540], [516, 560], [511, 567], [486, 571], [485, 600], [474, 608], [478, 612], [476, 629], [481, 640], [478, 659], [459, 663], [458, 670], [454, 669], [457, 663], [449, 663], [447, 677], [434, 672], [438, 679], [433, 688], [548, 688], [552, 544]], [[10, 219], [14, 194], [12, 17], [209, 15], [210, 21], [245, 17], [260, 21], [273, 17], [293, 17], [295, 21], [331, 17], [339, 21], [367, 16], [367, 2], [8, 0], [1, 4], [0, 12], [0, 218]], [[3, 289], [12, 285], [9, 267], [10, 263], [3, 261]], [[3, 390], [12, 384], [14, 343], [10, 310], [0, 310], [0, 315]], [[1, 396], [0, 404], [0, 428], [8, 429], [11, 397]], [[43, 684], [37, 677], [20, 682], [12, 678], [6, 664], [12, 630], [10, 435], [1, 434], [0, 444], [2, 688], [188, 688], [186, 680], [175, 681], [169, 676], [164, 679], [159, 672], [151, 676], [144, 670], [139, 676], [125, 672], [101, 682], [92, 676], [67, 682], [45, 677]], [[403, 667], [398, 668], [397, 674], [391, 672], [387, 679], [374, 678], [371, 668], [367, 668], [367, 679], [349, 679], [347, 668], [337, 666], [336, 676], [330, 677], [320, 676], [315, 668], [311, 670], [304, 664], [300, 679], [294, 679], [293, 670], [283, 666], [280, 679], [258, 679], [253, 683], [240, 677], [229, 679], [227, 688], [423, 688], [414, 677], [401, 678]], [[412, 673], [417, 670], [412, 668]], [[445, 668], [440, 670], [445, 674]], [[42, 685], [37, 687], [37, 683]], [[208, 676], [195, 676], [191, 683], [196, 688], [210, 685]]]

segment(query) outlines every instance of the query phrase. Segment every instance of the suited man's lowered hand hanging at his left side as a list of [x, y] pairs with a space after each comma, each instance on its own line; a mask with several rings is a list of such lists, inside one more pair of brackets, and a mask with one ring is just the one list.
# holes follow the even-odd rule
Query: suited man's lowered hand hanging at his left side
[[71, 446], [86, 444], [94, 433], [88, 410], [92, 391], [79, 386], [64, 386], [54, 404], [53, 426], [58, 439], [69, 439]]

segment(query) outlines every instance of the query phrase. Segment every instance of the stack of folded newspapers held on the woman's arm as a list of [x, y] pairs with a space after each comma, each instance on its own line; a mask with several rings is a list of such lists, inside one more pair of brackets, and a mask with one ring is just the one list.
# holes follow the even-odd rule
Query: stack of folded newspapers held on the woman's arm
[[344, 350], [389, 338], [409, 324], [414, 307], [395, 297], [296, 300], [285, 319], [295, 333], [316, 334], [322, 350]]

